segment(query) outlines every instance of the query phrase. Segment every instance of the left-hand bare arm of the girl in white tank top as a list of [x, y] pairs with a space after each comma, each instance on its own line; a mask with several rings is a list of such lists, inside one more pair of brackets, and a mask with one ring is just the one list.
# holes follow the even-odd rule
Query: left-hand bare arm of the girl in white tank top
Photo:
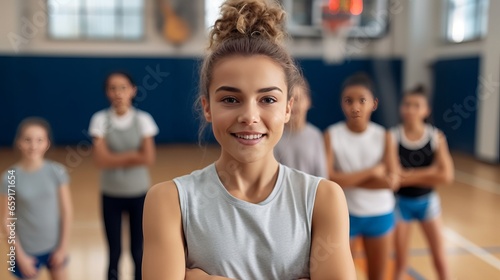
[[[331, 147], [330, 135], [328, 132], [324, 134], [325, 151], [327, 159], [328, 176], [330, 180], [339, 184], [342, 188], [351, 186], [361, 186], [363, 183], [371, 179], [377, 170], [375, 168], [365, 169], [359, 172], [345, 173], [335, 169], [335, 155]], [[380, 169], [380, 166], [376, 168]]]

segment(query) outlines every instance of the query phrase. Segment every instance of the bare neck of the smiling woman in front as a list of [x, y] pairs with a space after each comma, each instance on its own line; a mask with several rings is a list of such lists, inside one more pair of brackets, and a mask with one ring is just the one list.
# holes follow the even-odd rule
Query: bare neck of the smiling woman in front
[[215, 162], [217, 174], [228, 192], [252, 203], [265, 200], [272, 192], [278, 176], [278, 166], [273, 153], [251, 163], [238, 162], [222, 154]]

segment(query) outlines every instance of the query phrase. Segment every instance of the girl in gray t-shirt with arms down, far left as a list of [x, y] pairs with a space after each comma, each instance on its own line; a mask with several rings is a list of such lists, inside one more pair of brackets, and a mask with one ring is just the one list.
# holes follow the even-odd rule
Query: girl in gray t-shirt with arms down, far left
[[69, 177], [61, 164], [45, 159], [50, 142], [45, 120], [23, 120], [14, 140], [21, 159], [2, 175], [0, 218], [6, 237], [12, 229], [5, 225], [15, 223], [15, 243], [9, 243], [15, 248], [15, 266], [9, 270], [20, 279], [36, 278], [44, 266], [53, 280], [68, 279]]

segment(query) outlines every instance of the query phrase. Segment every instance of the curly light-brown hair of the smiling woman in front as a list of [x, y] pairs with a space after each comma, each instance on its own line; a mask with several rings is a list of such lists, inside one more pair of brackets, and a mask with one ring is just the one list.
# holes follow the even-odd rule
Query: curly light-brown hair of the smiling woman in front
[[[285, 49], [285, 11], [277, 2], [267, 0], [227, 0], [221, 6], [219, 19], [210, 32], [208, 53], [200, 69], [197, 107], [201, 99], [209, 100], [209, 86], [214, 65], [221, 59], [240, 55], [264, 55], [283, 68], [286, 77], [287, 96], [300, 82], [300, 71]], [[200, 114], [202, 115], [202, 114]], [[199, 136], [206, 123], [202, 119]]]

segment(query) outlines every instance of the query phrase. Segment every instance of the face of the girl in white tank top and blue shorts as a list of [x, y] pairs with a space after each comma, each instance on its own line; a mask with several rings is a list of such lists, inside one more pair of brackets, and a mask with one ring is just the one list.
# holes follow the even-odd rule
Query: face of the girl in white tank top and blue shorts
[[348, 123], [367, 124], [377, 105], [378, 100], [364, 86], [348, 86], [342, 92], [342, 111]]

